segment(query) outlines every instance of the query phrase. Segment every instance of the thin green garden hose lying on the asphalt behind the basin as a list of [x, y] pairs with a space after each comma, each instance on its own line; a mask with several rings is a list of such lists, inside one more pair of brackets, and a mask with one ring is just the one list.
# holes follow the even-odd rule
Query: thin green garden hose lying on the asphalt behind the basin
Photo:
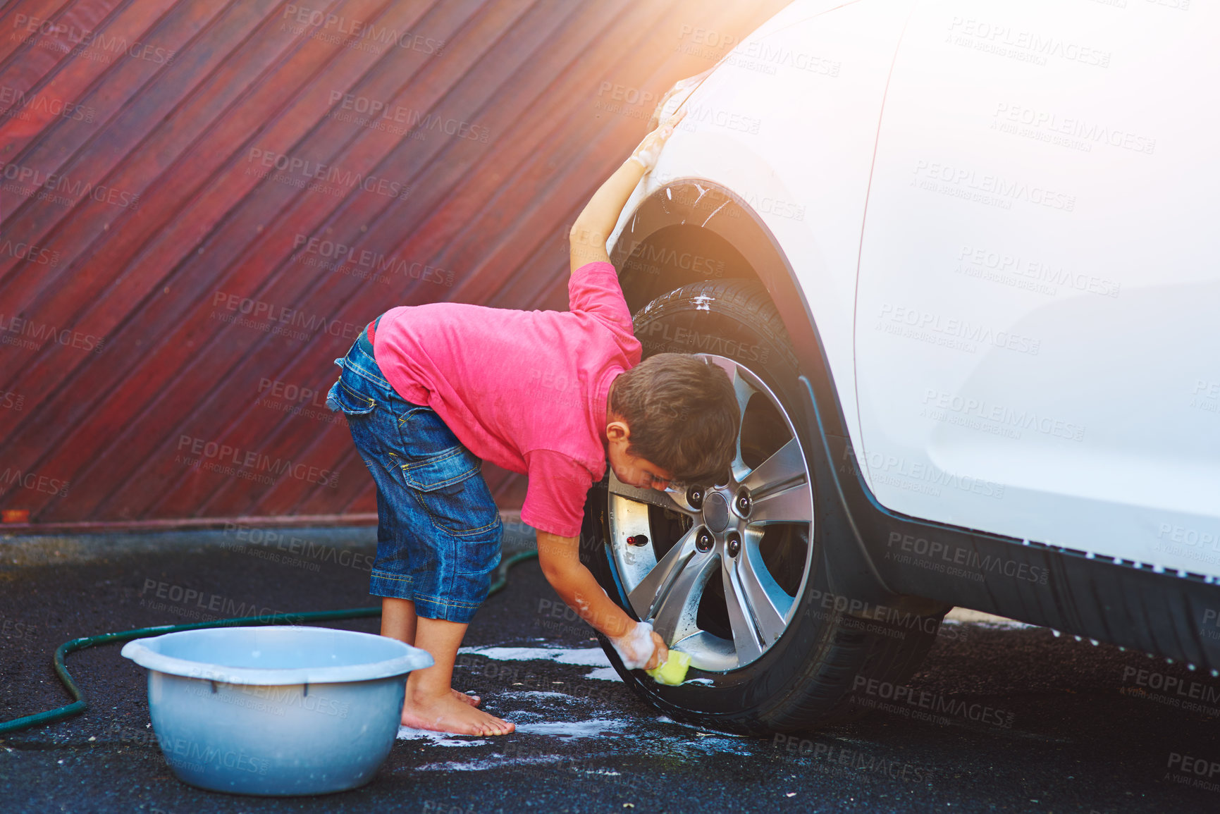
[[[493, 582], [492, 587], [488, 588], [487, 596], [492, 596], [493, 593], [501, 591], [504, 586], [508, 585], [510, 567], [517, 563], [522, 563], [536, 556], [538, 556], [538, 552], [517, 552], [512, 556], [504, 559], [497, 571], [495, 582]], [[345, 610], [315, 610], [304, 614], [242, 616], [238, 619], [221, 619], [217, 621], [195, 622], [192, 625], [157, 625], [155, 627], [137, 627], [135, 630], [124, 630], [118, 631], [117, 633], [99, 633], [96, 636], [73, 638], [55, 648], [55, 659], [52, 660], [52, 664], [55, 665], [55, 674], [60, 677], [60, 682], [63, 685], [63, 688], [67, 690], [68, 694], [76, 701], [71, 704], [59, 707], [57, 709], [49, 709], [45, 713], [35, 713], [34, 715], [26, 715], [24, 718], [16, 718], [11, 721], [5, 721], [0, 724], [0, 735], [7, 732], [20, 732], [21, 730], [27, 730], [32, 726], [41, 726], [43, 724], [61, 721], [65, 718], [79, 715], [89, 708], [89, 703], [84, 699], [84, 693], [81, 692], [81, 687], [77, 686], [76, 681], [72, 679], [72, 674], [68, 672], [67, 665], [63, 664], [63, 658], [68, 653], [76, 653], [77, 650], [96, 647], [99, 644], [128, 642], [133, 638], [173, 633], [179, 630], [198, 630], [200, 627], [237, 627], [240, 625], [300, 625], [303, 622], [333, 621], [336, 619], [366, 619], [370, 616], [381, 616], [381, 608], [348, 608]]]

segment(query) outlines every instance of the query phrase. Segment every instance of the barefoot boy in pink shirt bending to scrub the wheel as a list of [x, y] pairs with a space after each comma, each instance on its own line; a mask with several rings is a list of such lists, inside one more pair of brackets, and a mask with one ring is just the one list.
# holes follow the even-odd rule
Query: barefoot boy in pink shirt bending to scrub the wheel
[[737, 436], [732, 384], [686, 354], [639, 364], [640, 344], [605, 243], [677, 118], [649, 133], [571, 229], [570, 311], [459, 303], [394, 308], [368, 325], [327, 404], [348, 416], [377, 483], [382, 636], [436, 664], [406, 682], [403, 724], [506, 735], [510, 721], [450, 687], [467, 624], [499, 564], [501, 524], [481, 459], [528, 475], [521, 520], [538, 531], [548, 582], [605, 633], [628, 669], [667, 649], [622, 611], [578, 558], [586, 492], [609, 461], [640, 488], [723, 482]]

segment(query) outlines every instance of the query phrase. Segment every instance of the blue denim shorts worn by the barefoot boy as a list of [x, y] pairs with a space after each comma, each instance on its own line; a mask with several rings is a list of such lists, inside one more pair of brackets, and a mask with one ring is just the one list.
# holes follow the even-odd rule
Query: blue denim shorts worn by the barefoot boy
[[[379, 317], [378, 317], [379, 319]], [[431, 408], [399, 395], [373, 359], [367, 328], [326, 397], [377, 484], [377, 559], [368, 592], [415, 602], [428, 619], [468, 622], [500, 564], [500, 513], [466, 449]]]

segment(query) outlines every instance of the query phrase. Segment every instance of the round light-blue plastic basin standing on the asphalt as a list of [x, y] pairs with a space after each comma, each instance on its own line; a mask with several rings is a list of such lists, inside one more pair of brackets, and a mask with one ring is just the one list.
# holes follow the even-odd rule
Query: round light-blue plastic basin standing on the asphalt
[[432, 665], [403, 642], [328, 627], [216, 627], [139, 638], [149, 714], [178, 779], [239, 794], [323, 794], [386, 760], [406, 674]]

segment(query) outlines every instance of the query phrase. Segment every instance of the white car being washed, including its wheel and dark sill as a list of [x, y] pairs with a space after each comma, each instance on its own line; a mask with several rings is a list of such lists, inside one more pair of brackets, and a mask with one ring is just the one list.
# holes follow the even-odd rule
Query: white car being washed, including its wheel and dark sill
[[[608, 243], [706, 354], [733, 481], [589, 493], [586, 560], [767, 732], [894, 692], [960, 605], [1220, 668], [1220, 5], [798, 0]], [[878, 690], [880, 687], [880, 690]], [[932, 710], [935, 711], [935, 710]]]

